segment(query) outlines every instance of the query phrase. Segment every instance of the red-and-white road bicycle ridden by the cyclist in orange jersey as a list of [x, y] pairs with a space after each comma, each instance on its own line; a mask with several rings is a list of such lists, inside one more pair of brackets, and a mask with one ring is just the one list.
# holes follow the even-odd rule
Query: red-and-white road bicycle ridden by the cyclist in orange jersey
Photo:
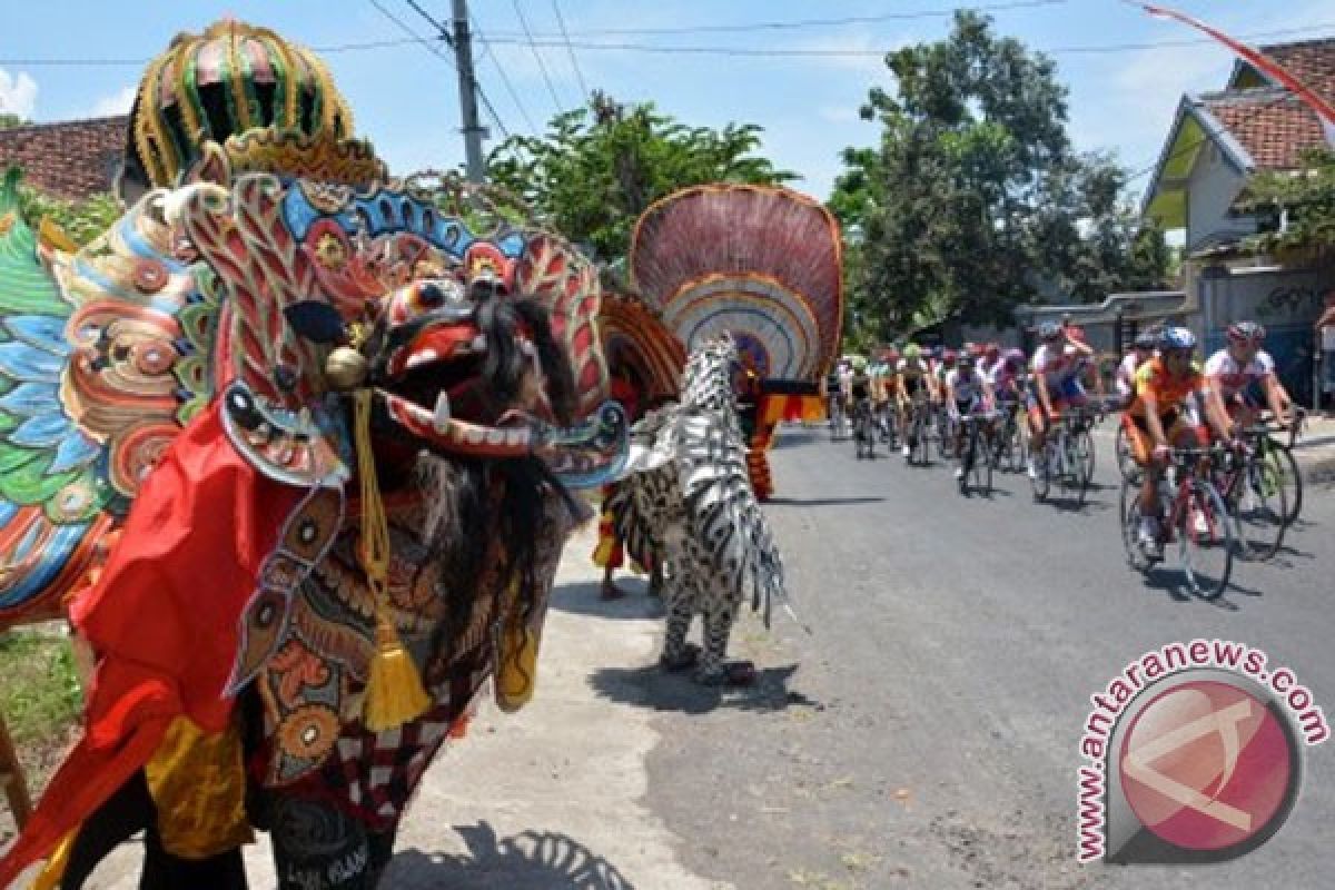
[[1127, 562], [1148, 572], [1177, 543], [1177, 558], [1187, 588], [1204, 599], [1216, 599], [1228, 587], [1234, 567], [1232, 522], [1224, 499], [1211, 479], [1211, 455], [1216, 448], [1176, 448], [1169, 467], [1157, 480], [1159, 514], [1152, 548], [1141, 540], [1143, 492], [1140, 483], [1121, 483], [1121, 542]]

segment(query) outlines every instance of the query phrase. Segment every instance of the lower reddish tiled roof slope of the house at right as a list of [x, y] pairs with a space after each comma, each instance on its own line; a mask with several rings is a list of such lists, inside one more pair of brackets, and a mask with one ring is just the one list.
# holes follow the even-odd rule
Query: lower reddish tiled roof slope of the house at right
[[1296, 169], [1306, 149], [1326, 144], [1316, 113], [1284, 89], [1211, 93], [1200, 103], [1247, 149], [1256, 169]]

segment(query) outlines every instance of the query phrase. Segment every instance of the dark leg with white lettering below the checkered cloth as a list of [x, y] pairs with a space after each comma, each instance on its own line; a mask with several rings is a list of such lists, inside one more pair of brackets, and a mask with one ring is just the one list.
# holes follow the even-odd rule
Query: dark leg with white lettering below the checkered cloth
[[275, 797], [270, 835], [279, 890], [372, 890], [394, 855], [394, 830], [375, 833], [336, 807]]

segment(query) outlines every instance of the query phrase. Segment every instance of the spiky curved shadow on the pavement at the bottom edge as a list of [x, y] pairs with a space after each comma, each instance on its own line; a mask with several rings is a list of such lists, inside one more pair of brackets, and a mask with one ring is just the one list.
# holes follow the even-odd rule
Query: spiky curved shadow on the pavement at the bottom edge
[[558, 831], [529, 830], [497, 838], [487, 822], [457, 825], [466, 854], [405, 850], [394, 857], [383, 886], [414, 890], [631, 890], [614, 865]]

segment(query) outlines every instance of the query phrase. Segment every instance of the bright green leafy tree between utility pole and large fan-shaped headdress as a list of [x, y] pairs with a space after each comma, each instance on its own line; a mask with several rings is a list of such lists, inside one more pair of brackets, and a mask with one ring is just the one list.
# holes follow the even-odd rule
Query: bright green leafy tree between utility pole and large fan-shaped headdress
[[653, 103], [626, 107], [594, 93], [587, 105], [553, 117], [543, 136], [498, 145], [487, 175], [563, 235], [615, 260], [639, 215], [680, 188], [796, 179], [756, 153], [761, 132], [756, 124], [688, 127]]

